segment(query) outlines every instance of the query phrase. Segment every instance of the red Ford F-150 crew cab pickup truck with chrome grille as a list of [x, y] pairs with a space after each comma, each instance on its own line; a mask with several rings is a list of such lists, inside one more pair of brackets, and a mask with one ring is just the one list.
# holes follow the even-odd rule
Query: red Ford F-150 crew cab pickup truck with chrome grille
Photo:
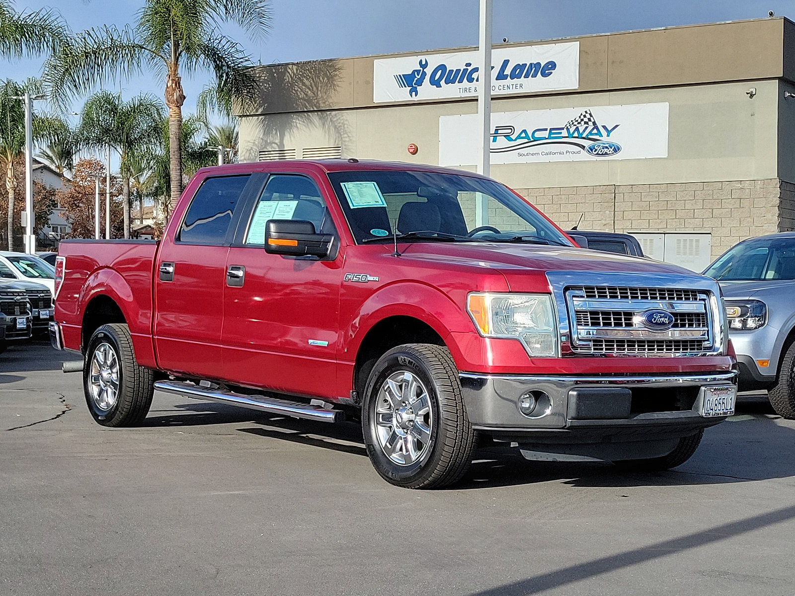
[[60, 243], [50, 332], [99, 424], [141, 423], [153, 389], [347, 416], [410, 488], [456, 482], [479, 438], [678, 466], [736, 394], [715, 281], [580, 249], [502, 184], [415, 164], [202, 169], [161, 241]]

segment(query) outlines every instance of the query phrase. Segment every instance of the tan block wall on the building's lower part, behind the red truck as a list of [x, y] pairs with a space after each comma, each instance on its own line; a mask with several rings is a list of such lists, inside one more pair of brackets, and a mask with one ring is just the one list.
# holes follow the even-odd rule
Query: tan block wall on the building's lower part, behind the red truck
[[740, 240], [795, 229], [795, 184], [778, 178], [560, 188], [522, 195], [568, 229], [712, 232], [712, 256]]

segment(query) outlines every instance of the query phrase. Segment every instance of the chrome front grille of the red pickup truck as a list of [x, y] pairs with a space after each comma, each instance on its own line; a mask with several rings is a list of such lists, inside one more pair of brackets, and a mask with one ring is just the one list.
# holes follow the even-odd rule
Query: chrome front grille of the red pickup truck
[[[564, 296], [575, 354], [682, 356], [715, 347], [711, 294], [704, 290], [570, 285]], [[646, 320], [660, 312], [669, 317], [664, 325]]]

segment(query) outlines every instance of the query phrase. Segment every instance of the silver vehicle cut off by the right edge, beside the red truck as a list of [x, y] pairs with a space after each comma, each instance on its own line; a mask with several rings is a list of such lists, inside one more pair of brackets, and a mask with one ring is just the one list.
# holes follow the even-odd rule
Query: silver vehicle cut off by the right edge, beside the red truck
[[795, 232], [744, 240], [704, 275], [723, 289], [739, 390], [767, 389], [776, 413], [795, 419]]

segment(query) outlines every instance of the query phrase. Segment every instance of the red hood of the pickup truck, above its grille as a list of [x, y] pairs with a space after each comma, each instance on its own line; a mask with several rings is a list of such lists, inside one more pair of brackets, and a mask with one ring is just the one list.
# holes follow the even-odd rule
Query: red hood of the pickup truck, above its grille
[[[594, 273], [669, 273], [682, 277], [700, 277], [689, 269], [646, 258], [628, 257], [599, 250], [569, 246], [541, 246], [506, 243], [416, 242], [401, 249], [403, 258], [450, 264], [465, 261], [468, 265], [496, 269], [511, 290], [533, 291], [547, 271], [588, 271]], [[531, 281], [532, 280], [532, 281]], [[646, 282], [648, 283], [648, 282]]]

